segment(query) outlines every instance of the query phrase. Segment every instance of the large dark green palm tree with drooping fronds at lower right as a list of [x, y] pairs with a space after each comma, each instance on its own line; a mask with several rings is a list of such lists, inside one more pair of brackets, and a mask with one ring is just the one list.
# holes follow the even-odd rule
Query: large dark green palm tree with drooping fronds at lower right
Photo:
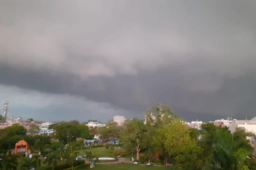
[[253, 149], [240, 130], [231, 134], [227, 127], [215, 127], [212, 123], [202, 125], [200, 141], [204, 149], [205, 169], [245, 170], [247, 156]]

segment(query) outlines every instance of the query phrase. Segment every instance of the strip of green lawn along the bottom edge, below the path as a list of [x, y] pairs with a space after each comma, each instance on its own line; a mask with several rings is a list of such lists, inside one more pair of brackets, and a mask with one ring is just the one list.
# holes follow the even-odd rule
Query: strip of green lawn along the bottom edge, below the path
[[127, 163], [118, 163], [118, 164], [95, 164], [95, 168], [82, 168], [77, 170], [86, 170], [86, 169], [93, 169], [93, 170], [171, 170], [172, 167], [162, 167], [162, 166], [149, 166], [149, 165], [134, 165], [134, 164], [127, 164]]

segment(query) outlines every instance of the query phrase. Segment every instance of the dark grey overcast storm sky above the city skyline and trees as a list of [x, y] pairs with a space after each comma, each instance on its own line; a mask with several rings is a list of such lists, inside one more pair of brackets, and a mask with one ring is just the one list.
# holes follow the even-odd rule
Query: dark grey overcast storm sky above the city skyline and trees
[[106, 122], [161, 102], [186, 120], [256, 116], [256, 1], [0, 1], [9, 116]]

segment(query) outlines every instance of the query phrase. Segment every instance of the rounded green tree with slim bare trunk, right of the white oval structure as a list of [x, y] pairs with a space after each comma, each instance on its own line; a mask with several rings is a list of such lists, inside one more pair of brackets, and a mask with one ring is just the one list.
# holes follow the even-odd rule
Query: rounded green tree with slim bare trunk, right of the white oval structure
[[127, 120], [124, 124], [122, 132], [122, 140], [127, 144], [131, 144], [136, 150], [136, 159], [139, 160], [139, 152], [143, 146], [143, 134], [145, 132], [143, 120], [132, 119]]

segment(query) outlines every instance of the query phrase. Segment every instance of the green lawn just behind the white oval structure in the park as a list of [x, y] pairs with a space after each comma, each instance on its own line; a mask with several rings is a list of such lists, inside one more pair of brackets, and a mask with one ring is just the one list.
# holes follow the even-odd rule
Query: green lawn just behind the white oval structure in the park
[[[105, 156], [114, 156], [115, 154], [118, 154], [122, 151], [125, 151], [125, 149], [121, 148], [121, 146], [115, 146], [114, 150], [110, 150], [110, 147], [108, 149], [106, 149], [105, 146], [103, 147], [95, 147], [92, 149], [86, 149], [87, 151], [91, 151], [92, 152], [92, 157], [96, 158], [96, 157], [105, 157]], [[83, 155], [85, 154], [85, 149], [83, 150], [79, 150], [79, 153], [77, 155]]]

